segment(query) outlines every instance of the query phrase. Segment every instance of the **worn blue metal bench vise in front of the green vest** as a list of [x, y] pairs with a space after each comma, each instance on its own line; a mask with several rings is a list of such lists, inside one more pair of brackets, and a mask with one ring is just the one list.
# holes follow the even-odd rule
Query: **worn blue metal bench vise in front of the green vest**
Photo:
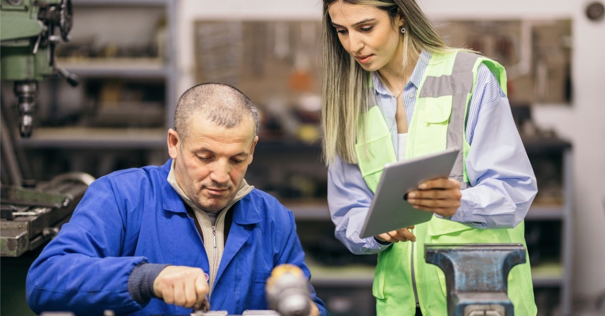
[[425, 260], [445, 273], [448, 316], [514, 315], [507, 282], [526, 262], [522, 244], [425, 245]]

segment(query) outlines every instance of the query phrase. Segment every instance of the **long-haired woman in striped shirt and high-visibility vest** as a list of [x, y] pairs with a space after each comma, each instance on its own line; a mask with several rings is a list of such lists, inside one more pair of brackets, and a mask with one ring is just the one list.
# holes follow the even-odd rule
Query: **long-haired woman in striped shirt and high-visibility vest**
[[[336, 237], [378, 253], [378, 315], [446, 315], [443, 272], [426, 243], [523, 243], [537, 193], [497, 62], [448, 47], [414, 0], [324, 0], [323, 154]], [[433, 212], [411, 228], [359, 237], [382, 166], [463, 148], [450, 179], [419, 185], [408, 202]], [[535, 315], [528, 263], [515, 266], [515, 315]]]

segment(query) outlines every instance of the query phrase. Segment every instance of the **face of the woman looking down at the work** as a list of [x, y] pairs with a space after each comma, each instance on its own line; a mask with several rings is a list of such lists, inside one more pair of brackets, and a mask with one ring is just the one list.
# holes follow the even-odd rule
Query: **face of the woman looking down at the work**
[[364, 70], [377, 71], [385, 65], [401, 68], [403, 19], [396, 16], [397, 24], [393, 25], [384, 10], [344, 1], [331, 4], [328, 13], [342, 47]]

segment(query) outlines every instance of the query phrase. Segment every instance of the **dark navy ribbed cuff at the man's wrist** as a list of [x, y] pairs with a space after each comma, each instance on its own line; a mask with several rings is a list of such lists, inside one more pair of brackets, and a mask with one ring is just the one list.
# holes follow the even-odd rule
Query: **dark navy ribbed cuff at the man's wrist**
[[134, 269], [128, 277], [128, 292], [134, 301], [147, 304], [155, 297], [153, 282], [160, 272], [169, 265], [159, 263], [142, 263]]

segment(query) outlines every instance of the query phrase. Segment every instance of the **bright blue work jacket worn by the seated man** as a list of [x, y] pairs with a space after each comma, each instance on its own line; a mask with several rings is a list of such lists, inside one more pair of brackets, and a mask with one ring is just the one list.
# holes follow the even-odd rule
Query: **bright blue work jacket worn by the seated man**
[[[139, 304], [128, 292], [128, 277], [141, 263], [209, 269], [194, 219], [166, 180], [171, 163], [116, 171], [89, 186], [70, 222], [30, 267], [26, 292], [34, 312], [191, 314], [157, 298]], [[310, 278], [294, 216], [259, 189], [231, 211], [211, 309], [229, 314], [268, 309], [264, 286], [275, 266], [292, 263]], [[313, 289], [311, 298], [327, 315]]]

